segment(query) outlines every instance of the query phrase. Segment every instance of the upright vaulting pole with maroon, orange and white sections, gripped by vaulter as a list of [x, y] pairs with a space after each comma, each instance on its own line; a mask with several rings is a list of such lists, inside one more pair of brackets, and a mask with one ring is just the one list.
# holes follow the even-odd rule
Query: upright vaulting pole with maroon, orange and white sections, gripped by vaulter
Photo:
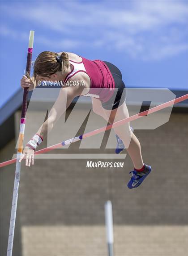
[[[28, 54], [27, 54], [27, 64], [26, 64], [26, 76], [27, 76], [27, 74], [30, 75], [32, 52], [33, 52], [33, 42], [34, 42], [34, 31], [30, 31], [29, 47], [28, 47]], [[22, 150], [23, 150], [23, 138], [24, 138], [24, 130], [25, 130], [25, 124], [26, 124], [28, 91], [29, 91], [29, 89], [24, 88], [22, 108], [21, 108], [20, 134], [19, 134], [18, 148], [17, 148], [17, 159], [15, 159], [16, 171], [15, 171], [15, 178], [14, 178], [14, 190], [13, 190], [11, 217], [10, 217], [7, 256], [12, 256], [12, 252], [13, 252], [14, 227], [15, 227], [15, 221], [16, 221], [17, 198], [18, 198], [20, 170], [21, 170], [21, 162], [19, 162], [19, 159], [21, 157]]]

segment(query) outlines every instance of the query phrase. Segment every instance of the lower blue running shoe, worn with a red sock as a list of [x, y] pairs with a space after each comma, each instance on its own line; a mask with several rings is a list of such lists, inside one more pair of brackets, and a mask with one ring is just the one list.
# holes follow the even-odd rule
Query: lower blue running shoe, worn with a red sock
[[151, 166], [145, 165], [144, 171], [141, 171], [140, 173], [138, 171], [130, 171], [129, 173], [132, 173], [131, 180], [129, 180], [127, 186], [129, 189], [135, 189], [138, 186], [141, 185], [141, 183], [145, 180], [147, 175], [149, 175], [151, 172]]

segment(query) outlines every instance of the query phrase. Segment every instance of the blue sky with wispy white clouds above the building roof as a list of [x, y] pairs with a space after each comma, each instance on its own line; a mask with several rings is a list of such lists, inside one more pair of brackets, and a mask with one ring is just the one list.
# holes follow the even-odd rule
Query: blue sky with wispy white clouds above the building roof
[[128, 87], [188, 90], [186, 0], [1, 0], [0, 106], [20, 89], [30, 30], [33, 59], [69, 51], [114, 63]]

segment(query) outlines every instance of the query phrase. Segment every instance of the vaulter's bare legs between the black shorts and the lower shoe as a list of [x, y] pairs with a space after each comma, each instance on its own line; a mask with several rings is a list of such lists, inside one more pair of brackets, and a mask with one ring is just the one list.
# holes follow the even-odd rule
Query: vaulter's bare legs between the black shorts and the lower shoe
[[[129, 117], [126, 103], [124, 102], [119, 108], [114, 110], [106, 110], [103, 108], [101, 102], [98, 99], [93, 99], [93, 110], [96, 114], [102, 116], [109, 123], [120, 121]], [[115, 127], [115, 133], [122, 139], [124, 146], [132, 159], [134, 168], [141, 169], [144, 165], [141, 155], [141, 145], [137, 137], [132, 133], [129, 122]]]

